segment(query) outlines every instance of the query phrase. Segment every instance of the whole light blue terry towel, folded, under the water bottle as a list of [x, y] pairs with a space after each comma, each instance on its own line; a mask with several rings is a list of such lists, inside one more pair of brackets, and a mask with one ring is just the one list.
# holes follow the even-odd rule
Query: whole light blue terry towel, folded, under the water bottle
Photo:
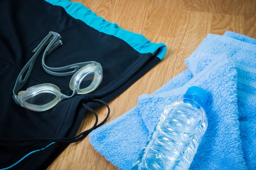
[[209, 95], [208, 128], [190, 169], [256, 169], [256, 40], [230, 31], [225, 35], [233, 38], [209, 34], [186, 59], [186, 71], [93, 130], [93, 147], [119, 169], [130, 169], [164, 106], [198, 85]]

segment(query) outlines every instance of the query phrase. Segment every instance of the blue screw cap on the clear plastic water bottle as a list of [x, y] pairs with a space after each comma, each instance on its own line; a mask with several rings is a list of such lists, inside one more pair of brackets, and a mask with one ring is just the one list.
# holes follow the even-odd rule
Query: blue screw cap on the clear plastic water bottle
[[206, 103], [207, 98], [208, 98], [207, 92], [198, 86], [190, 87], [186, 91], [186, 94], [184, 95], [184, 97], [186, 98], [186, 96], [190, 96], [190, 95], [198, 96], [198, 98], [200, 98], [201, 101], [203, 102], [203, 105]]

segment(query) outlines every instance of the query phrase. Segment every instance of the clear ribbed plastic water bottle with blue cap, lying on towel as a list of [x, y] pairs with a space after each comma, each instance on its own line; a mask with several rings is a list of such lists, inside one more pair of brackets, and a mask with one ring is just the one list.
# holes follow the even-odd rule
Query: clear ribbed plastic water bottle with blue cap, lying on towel
[[166, 106], [131, 170], [187, 170], [207, 129], [207, 93], [190, 87]]

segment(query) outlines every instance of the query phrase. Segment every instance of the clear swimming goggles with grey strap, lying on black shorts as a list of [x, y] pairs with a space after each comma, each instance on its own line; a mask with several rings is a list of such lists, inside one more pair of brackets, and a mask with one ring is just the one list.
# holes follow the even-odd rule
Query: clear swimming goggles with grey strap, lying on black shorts
[[[102, 66], [98, 62], [80, 62], [59, 68], [48, 67], [45, 64], [44, 61], [46, 56], [62, 45], [60, 39], [60, 34], [51, 31], [35, 48], [35, 50], [33, 50], [35, 54], [20, 71], [13, 89], [13, 99], [18, 105], [32, 111], [46, 111], [57, 105], [61, 100], [69, 99], [76, 94], [90, 93], [101, 83]], [[32, 68], [35, 65], [35, 61], [45, 46], [47, 47], [42, 58], [44, 71], [54, 76], [73, 75], [70, 79], [70, 89], [73, 90], [73, 94], [71, 96], [62, 94], [56, 85], [49, 83], [35, 85], [26, 89], [26, 91], [20, 91], [29, 78]]]

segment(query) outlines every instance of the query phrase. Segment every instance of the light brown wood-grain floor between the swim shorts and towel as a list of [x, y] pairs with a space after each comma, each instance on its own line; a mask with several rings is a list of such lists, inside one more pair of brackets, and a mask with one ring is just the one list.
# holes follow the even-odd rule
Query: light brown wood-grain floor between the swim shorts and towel
[[[124, 93], [108, 103], [110, 122], [137, 104], [141, 94], [151, 94], [186, 69], [184, 59], [208, 33], [235, 31], [256, 38], [256, 0], [76, 0], [105, 20], [117, 23], [151, 42], [167, 45], [165, 58]], [[96, 110], [103, 120], [107, 109]], [[94, 123], [85, 116], [78, 133]], [[117, 170], [90, 145], [88, 137], [70, 144], [49, 170]]]

